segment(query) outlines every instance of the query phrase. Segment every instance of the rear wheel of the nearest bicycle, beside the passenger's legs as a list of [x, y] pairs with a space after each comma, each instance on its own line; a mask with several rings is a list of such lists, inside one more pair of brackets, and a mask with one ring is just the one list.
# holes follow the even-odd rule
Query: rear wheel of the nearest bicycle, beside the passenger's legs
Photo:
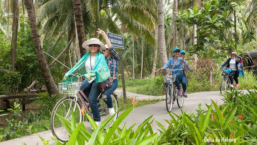
[[[115, 110], [116, 115], [112, 118], [112, 120], [108, 123], [109, 127], [112, 127], [113, 122], [117, 119], [118, 117], [118, 97], [116, 94], [111, 94], [111, 98], [112, 98], [112, 102], [113, 102], [113, 108]], [[99, 106], [99, 113], [100, 113], [100, 117], [101, 117], [101, 122], [103, 122], [103, 120], [107, 119], [110, 114], [109, 114], [109, 109], [106, 105], [106, 103], [103, 101], [103, 99], [99, 99], [97, 98], [97, 102], [98, 102], [98, 106]]]

